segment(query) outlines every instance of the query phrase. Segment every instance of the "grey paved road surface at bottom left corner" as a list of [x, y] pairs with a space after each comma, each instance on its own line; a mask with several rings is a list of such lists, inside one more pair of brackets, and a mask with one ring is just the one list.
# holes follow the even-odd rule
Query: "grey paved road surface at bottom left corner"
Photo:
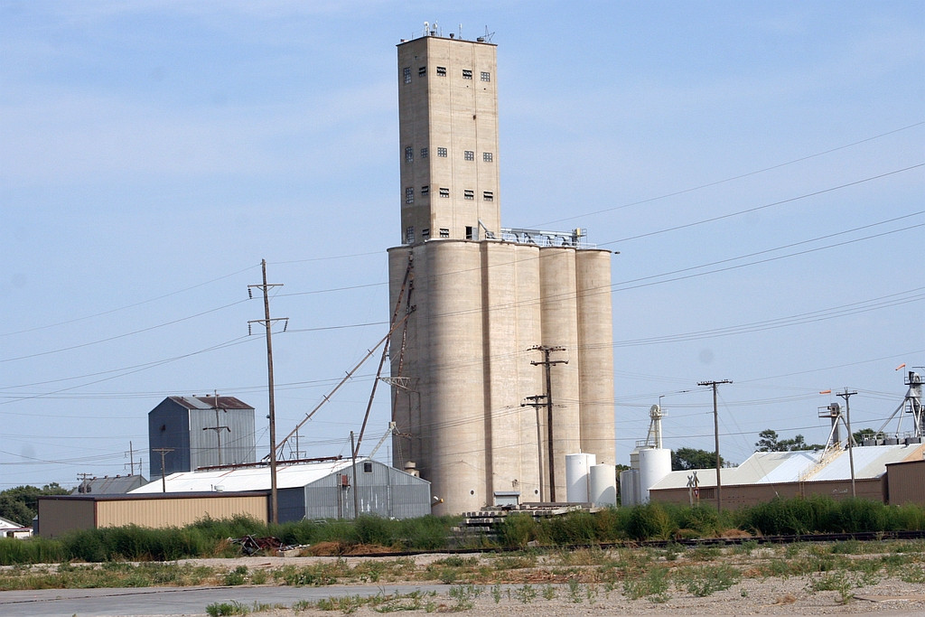
[[317, 601], [341, 596], [375, 596], [379, 592], [408, 594], [415, 590], [450, 592], [449, 585], [385, 586], [234, 586], [234, 587], [142, 587], [133, 589], [39, 589], [0, 591], [0, 615], [57, 617], [80, 615], [204, 615], [213, 602], [237, 600], [253, 606], [292, 606], [301, 599]]

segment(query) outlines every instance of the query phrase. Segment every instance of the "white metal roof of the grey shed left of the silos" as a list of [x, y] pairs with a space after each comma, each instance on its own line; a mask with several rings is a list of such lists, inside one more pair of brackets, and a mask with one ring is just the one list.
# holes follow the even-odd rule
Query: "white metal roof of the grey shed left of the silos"
[[[357, 463], [368, 459], [357, 459]], [[325, 461], [322, 463], [300, 463], [277, 466], [277, 488], [304, 487], [326, 475], [334, 474], [351, 466], [351, 459]], [[269, 467], [243, 467], [218, 471], [179, 472], [166, 476], [166, 492], [209, 492], [223, 490], [238, 492], [246, 490], [269, 490]], [[129, 493], [160, 493], [164, 490], [161, 479], [138, 487]]]

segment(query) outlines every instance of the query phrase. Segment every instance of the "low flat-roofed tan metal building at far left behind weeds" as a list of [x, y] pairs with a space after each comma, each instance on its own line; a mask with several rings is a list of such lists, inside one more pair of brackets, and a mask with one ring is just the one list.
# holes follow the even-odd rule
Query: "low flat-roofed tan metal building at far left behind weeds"
[[268, 519], [267, 492], [55, 495], [39, 498], [37, 535], [57, 537], [75, 529], [181, 527], [203, 518]]

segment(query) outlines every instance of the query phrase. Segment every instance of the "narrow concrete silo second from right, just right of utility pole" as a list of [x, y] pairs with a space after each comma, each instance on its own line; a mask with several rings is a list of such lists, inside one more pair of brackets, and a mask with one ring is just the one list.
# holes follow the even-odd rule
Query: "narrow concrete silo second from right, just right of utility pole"
[[[555, 465], [556, 500], [565, 497], [565, 455], [581, 450], [581, 418], [578, 409], [578, 315], [575, 297], [575, 250], [543, 247], [539, 250], [539, 290], [542, 337], [536, 344], [562, 348], [551, 352], [550, 362], [568, 360], [568, 364], [549, 366], [553, 414], [553, 464]], [[536, 361], [545, 361], [542, 352], [534, 352]], [[539, 364], [537, 371], [545, 373]], [[545, 393], [545, 392], [544, 392]]]

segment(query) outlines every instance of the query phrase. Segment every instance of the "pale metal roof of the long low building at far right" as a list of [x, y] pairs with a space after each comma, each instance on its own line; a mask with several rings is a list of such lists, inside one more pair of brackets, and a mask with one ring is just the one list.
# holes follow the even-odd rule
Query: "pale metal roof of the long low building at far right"
[[[870, 479], [885, 474], [888, 463], [920, 461], [925, 455], [925, 444], [866, 446], [853, 450], [855, 478]], [[847, 450], [829, 452], [820, 463], [821, 455], [821, 450], [755, 452], [738, 467], [723, 468], [722, 485], [783, 484], [799, 482], [801, 479], [808, 482], [851, 479]], [[684, 488], [687, 486], [688, 475], [691, 475], [689, 470], [671, 472], [651, 488]], [[697, 481], [700, 487], [715, 487], [716, 470], [698, 469]]]

